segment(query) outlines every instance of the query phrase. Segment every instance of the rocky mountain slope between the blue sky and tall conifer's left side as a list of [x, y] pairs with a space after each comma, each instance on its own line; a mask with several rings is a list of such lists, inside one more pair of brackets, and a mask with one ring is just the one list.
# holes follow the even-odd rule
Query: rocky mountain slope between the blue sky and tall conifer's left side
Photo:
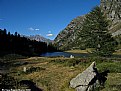
[[54, 40], [54, 43], [61, 50], [75, 48], [74, 41], [78, 36], [79, 30], [82, 28], [84, 16], [73, 19], [68, 26], [62, 30]]

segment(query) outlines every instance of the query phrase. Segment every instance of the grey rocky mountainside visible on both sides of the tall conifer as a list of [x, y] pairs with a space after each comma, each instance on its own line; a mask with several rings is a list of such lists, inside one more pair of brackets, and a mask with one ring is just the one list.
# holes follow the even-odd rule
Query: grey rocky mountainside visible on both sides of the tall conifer
[[[110, 21], [109, 32], [113, 36], [121, 34], [121, 0], [101, 0], [100, 7], [105, 12]], [[60, 50], [78, 49], [77, 37], [85, 16], [79, 16], [73, 19], [67, 27], [62, 30], [54, 40], [55, 46]]]

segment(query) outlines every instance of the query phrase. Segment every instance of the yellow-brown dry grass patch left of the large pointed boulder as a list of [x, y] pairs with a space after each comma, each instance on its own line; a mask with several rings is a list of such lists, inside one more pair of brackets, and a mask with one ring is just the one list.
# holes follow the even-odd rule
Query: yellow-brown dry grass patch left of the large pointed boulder
[[[31, 63], [34, 60], [34, 64], [28, 64], [26, 65], [26, 68], [34, 66], [45, 68], [45, 70], [30, 74], [23, 74], [21, 71], [24, 66], [20, 66], [11, 69], [11, 71], [14, 71], [12, 75], [18, 80], [33, 80], [36, 82], [37, 86], [44, 89], [44, 91], [74, 91], [72, 88], [69, 88], [69, 81], [78, 73], [86, 69], [86, 66], [77, 65], [75, 67], [69, 67], [64, 66], [63, 64], [55, 64], [50, 62], [51, 60], [57, 59], [68, 58], [38, 58], [36, 61], [33, 58], [29, 58], [26, 59], [26, 61]], [[20, 74], [18, 75], [18, 73]]]

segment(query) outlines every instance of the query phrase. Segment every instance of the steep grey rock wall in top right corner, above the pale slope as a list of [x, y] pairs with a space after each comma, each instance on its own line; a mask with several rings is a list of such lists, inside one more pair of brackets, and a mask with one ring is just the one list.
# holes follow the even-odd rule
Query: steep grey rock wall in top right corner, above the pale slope
[[121, 21], [121, 0], [101, 0], [100, 7], [113, 23]]

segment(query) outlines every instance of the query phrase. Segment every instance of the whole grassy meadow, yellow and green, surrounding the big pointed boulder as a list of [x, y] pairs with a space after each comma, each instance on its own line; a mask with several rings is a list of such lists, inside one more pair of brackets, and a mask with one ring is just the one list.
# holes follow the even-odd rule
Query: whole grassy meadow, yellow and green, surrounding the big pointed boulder
[[[96, 61], [100, 72], [105, 69], [110, 70], [105, 88], [100, 91], [121, 91], [121, 59], [32, 57], [16, 61], [24, 61], [28, 64], [13, 65], [10, 69], [10, 75], [18, 81], [32, 80], [44, 91], [75, 91], [69, 87], [70, 80], [85, 70], [93, 61]], [[24, 67], [27, 69], [40, 67], [40, 70], [24, 73]]]

